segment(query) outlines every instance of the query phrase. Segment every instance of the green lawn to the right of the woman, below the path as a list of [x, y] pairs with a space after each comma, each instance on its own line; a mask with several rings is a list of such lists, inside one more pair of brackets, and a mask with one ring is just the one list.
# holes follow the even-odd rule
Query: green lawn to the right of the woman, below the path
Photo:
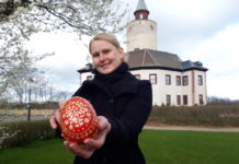
[[238, 164], [239, 133], [144, 130], [147, 164]]

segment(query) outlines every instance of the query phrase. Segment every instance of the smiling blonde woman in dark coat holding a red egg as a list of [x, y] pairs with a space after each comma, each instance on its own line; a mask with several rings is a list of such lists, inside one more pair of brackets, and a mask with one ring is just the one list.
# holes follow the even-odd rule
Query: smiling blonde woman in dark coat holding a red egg
[[[64, 144], [76, 154], [73, 164], [145, 164], [138, 136], [151, 109], [151, 84], [129, 73], [124, 50], [114, 35], [98, 34], [89, 50], [94, 79], [84, 81], [73, 96], [92, 103], [99, 132], [83, 144], [69, 141]], [[57, 122], [59, 110], [50, 118], [53, 128], [57, 128]]]

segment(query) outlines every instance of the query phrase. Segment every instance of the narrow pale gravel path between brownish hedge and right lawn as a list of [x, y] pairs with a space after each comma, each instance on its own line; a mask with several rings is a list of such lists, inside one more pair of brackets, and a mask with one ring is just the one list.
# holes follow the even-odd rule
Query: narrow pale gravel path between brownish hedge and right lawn
[[181, 127], [181, 126], [145, 126], [144, 129], [155, 130], [185, 130], [185, 131], [225, 131], [239, 132], [239, 127], [210, 128], [210, 127]]

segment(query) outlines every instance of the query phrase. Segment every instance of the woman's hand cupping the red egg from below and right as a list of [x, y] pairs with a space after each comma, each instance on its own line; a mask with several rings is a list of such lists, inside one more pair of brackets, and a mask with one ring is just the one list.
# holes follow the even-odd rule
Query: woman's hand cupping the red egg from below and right
[[100, 149], [104, 142], [107, 133], [111, 131], [111, 124], [103, 116], [98, 116], [99, 129], [93, 139], [86, 139], [82, 144], [70, 141], [65, 141], [65, 147], [76, 155], [84, 159], [91, 157], [96, 149]]

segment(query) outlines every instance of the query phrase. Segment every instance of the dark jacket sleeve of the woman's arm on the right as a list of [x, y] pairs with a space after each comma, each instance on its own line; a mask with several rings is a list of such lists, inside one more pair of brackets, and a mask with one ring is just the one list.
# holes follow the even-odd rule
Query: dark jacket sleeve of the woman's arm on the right
[[111, 132], [106, 140], [120, 144], [137, 141], [151, 107], [151, 84], [149, 81], [140, 81], [137, 94], [127, 103], [123, 115], [120, 118], [107, 118], [111, 124]]

